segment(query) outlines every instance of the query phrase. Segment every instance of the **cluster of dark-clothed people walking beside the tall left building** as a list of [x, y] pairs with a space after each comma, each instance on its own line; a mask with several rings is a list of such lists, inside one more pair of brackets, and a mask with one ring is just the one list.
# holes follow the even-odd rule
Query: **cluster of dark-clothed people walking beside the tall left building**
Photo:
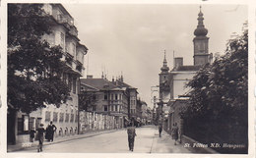
[[33, 138], [35, 138], [39, 141], [39, 144], [38, 144], [38, 147], [37, 147], [37, 152], [42, 151], [42, 144], [43, 144], [44, 137], [48, 141], [53, 141], [54, 132], [56, 130], [57, 130], [57, 128], [52, 124], [52, 122], [50, 122], [50, 124], [47, 126], [46, 130], [44, 130], [43, 124], [39, 125], [36, 132], [34, 131], [34, 128], [32, 128], [30, 139], [31, 139], [31, 142], [33, 141]]

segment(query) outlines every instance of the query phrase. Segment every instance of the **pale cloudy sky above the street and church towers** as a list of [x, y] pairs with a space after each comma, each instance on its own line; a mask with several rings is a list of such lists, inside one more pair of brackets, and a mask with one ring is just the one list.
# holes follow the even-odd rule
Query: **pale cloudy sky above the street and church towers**
[[[124, 81], [138, 88], [139, 97], [153, 107], [151, 86], [159, 84], [163, 51], [173, 68], [175, 57], [193, 65], [193, 38], [200, 11], [195, 4], [63, 4], [75, 20], [85, 56], [87, 75]], [[243, 5], [202, 5], [208, 29], [209, 53], [224, 54], [233, 32], [247, 21]]]

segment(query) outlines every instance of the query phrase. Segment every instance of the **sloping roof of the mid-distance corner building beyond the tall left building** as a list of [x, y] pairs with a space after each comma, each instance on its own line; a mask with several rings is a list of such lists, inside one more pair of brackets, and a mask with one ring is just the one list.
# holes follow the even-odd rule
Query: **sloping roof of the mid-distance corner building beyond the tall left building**
[[100, 90], [121, 90], [107, 79], [81, 79], [81, 83], [90, 85]]

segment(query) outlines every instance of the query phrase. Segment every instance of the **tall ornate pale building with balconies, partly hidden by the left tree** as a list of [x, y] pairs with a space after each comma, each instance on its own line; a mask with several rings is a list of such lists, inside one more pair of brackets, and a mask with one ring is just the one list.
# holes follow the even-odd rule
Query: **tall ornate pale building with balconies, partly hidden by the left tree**
[[31, 114], [18, 112], [14, 133], [16, 142], [29, 141], [28, 132], [43, 124], [44, 128], [50, 121], [57, 127], [58, 135], [74, 134], [78, 130], [78, 93], [80, 92], [80, 77], [83, 76], [84, 56], [88, 48], [80, 43], [77, 27], [74, 19], [61, 4], [44, 4], [42, 9], [52, 22], [51, 33], [44, 34], [42, 40], [46, 40], [50, 46], [59, 45], [63, 51], [62, 60], [66, 61], [62, 80], [70, 89], [70, 97], [59, 108], [54, 105], [46, 105], [46, 108], [38, 109]]

